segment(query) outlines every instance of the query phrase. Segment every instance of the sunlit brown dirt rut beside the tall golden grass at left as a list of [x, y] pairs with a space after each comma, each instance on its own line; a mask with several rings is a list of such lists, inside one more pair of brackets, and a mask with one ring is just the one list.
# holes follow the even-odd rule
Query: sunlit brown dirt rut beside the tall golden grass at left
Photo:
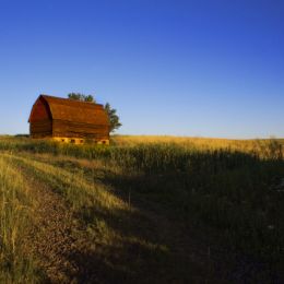
[[76, 239], [71, 235], [72, 215], [57, 193], [24, 176], [36, 201], [34, 232], [27, 239], [32, 252], [49, 282], [70, 283], [79, 272], [76, 263], [69, 258], [76, 249]]

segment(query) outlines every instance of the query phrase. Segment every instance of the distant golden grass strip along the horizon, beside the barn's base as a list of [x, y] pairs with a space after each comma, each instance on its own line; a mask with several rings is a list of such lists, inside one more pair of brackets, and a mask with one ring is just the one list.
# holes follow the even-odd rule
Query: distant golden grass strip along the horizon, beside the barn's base
[[238, 152], [257, 155], [261, 158], [283, 158], [284, 139], [267, 140], [225, 140], [171, 137], [114, 137], [113, 146], [84, 144], [81, 146], [63, 144], [48, 140], [29, 138], [0, 137], [0, 151], [26, 151], [49, 153], [84, 158], [128, 158], [135, 149], [171, 147], [174, 151], [190, 152]]

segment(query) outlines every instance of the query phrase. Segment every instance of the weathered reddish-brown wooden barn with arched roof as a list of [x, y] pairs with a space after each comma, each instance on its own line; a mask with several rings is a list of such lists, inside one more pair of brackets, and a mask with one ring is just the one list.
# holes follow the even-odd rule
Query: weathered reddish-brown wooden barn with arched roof
[[40, 95], [29, 115], [32, 138], [61, 142], [109, 143], [109, 119], [103, 105]]

